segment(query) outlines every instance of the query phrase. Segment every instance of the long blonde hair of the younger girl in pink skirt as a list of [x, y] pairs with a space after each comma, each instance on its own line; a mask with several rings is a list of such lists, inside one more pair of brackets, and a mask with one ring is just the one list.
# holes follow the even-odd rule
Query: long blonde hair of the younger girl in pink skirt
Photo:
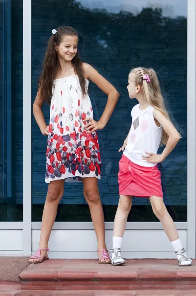
[[[148, 104], [155, 107], [157, 110], [161, 111], [163, 115], [171, 121], [171, 118], [166, 110], [164, 99], [161, 93], [159, 80], [157, 74], [152, 68], [133, 68], [130, 73], [135, 73], [135, 84], [140, 85], [142, 87], [142, 91], [145, 99]], [[150, 78], [150, 82], [144, 80], [144, 75], [148, 75]], [[166, 145], [168, 141], [168, 135], [163, 130], [161, 145]]]

